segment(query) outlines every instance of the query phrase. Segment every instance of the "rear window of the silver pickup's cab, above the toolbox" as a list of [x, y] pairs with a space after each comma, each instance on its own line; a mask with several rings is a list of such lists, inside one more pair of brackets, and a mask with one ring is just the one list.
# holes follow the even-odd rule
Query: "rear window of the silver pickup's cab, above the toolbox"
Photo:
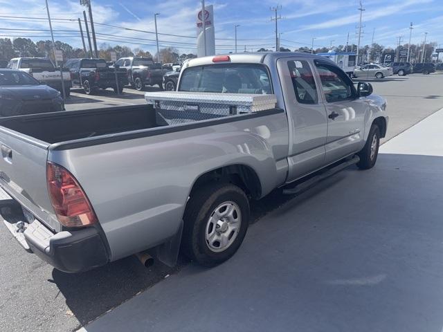
[[269, 94], [269, 82], [262, 64], [210, 64], [186, 68], [179, 91]]

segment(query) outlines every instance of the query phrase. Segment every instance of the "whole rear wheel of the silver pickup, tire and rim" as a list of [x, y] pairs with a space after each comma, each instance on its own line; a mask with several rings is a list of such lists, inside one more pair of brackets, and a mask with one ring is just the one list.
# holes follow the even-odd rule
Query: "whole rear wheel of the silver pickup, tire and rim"
[[215, 266], [232, 257], [242, 244], [249, 202], [236, 185], [210, 183], [191, 194], [183, 221], [183, 253], [203, 266]]

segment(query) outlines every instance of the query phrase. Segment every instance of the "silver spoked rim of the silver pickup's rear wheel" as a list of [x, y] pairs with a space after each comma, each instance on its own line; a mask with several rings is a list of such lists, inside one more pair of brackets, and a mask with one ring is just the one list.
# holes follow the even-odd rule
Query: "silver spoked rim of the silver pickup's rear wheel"
[[205, 239], [209, 250], [222, 252], [229, 248], [242, 225], [242, 212], [232, 201], [221, 203], [213, 210], [206, 223]]

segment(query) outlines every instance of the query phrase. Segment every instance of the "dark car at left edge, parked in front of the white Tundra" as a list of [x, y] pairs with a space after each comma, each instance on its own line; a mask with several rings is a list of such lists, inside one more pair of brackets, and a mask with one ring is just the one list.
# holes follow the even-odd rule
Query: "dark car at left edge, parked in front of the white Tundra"
[[59, 91], [41, 84], [23, 71], [0, 69], [0, 116], [21, 116], [62, 110], [64, 110], [64, 101]]

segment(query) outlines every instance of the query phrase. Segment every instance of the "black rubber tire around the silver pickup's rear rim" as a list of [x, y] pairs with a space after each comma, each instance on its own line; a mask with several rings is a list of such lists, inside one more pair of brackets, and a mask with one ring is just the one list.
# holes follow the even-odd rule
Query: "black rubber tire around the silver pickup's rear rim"
[[[220, 205], [226, 202], [233, 202], [237, 205], [241, 223], [238, 231], [235, 232], [236, 237], [227, 248], [223, 251], [214, 252], [206, 241], [207, 225], [209, 224], [210, 216], [215, 213], [215, 210]], [[232, 257], [242, 244], [248, 229], [249, 202], [243, 190], [236, 185], [213, 182], [195, 190], [191, 194], [183, 215], [183, 221], [183, 236], [181, 240], [183, 253], [202, 266], [215, 266]], [[232, 237], [233, 235], [230, 236], [230, 238]], [[219, 246], [221, 246], [221, 243]]]

